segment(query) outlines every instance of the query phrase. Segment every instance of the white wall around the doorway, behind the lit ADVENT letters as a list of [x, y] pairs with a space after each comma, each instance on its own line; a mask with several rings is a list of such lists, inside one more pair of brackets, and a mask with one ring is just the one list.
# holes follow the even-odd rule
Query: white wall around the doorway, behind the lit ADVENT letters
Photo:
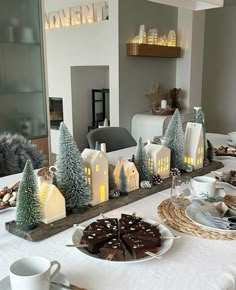
[[[80, 0], [45, 0], [45, 10], [46, 12], [58, 11], [84, 2]], [[86, 3], [88, 2], [86, 1]], [[119, 124], [118, 51], [118, 0], [109, 1], [108, 21], [46, 31], [49, 96], [63, 98], [64, 121], [71, 132], [74, 131], [72, 66], [109, 66], [111, 124]], [[74, 134], [77, 133], [79, 134], [79, 132], [74, 132]], [[55, 135], [51, 139], [52, 143], [57, 139]], [[55, 148], [56, 144], [52, 144], [53, 153], [56, 153]]]

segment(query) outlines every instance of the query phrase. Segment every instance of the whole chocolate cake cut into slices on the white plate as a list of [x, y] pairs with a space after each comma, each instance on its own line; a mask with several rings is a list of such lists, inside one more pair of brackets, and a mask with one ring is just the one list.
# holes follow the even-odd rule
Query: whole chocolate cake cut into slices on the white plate
[[[119, 231], [120, 229], [120, 231]], [[127, 250], [135, 258], [146, 256], [145, 252], [156, 253], [161, 246], [159, 229], [135, 215], [121, 214], [117, 219], [98, 219], [88, 225], [81, 238], [86, 249], [104, 259], [112, 261], [125, 260], [124, 243]]]

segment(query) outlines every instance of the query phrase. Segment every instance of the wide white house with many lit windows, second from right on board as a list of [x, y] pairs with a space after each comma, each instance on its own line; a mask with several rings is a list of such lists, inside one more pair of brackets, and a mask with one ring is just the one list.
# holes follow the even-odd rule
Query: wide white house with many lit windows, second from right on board
[[170, 149], [163, 145], [148, 144], [144, 147], [147, 153], [148, 166], [152, 174], [159, 174], [161, 178], [170, 175]]

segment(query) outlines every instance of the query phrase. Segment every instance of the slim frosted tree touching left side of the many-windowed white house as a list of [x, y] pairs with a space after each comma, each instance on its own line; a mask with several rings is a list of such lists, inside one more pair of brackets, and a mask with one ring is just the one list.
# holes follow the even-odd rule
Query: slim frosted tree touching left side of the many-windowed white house
[[135, 166], [139, 173], [139, 181], [152, 181], [152, 174], [148, 166], [147, 154], [144, 148], [142, 138], [139, 138], [136, 156], [135, 156]]

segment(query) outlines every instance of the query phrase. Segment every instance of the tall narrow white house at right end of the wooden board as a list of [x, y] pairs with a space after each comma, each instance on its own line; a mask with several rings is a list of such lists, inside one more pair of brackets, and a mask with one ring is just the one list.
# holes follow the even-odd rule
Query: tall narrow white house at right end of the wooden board
[[203, 167], [204, 141], [202, 124], [188, 122], [184, 140], [184, 162], [194, 169]]

